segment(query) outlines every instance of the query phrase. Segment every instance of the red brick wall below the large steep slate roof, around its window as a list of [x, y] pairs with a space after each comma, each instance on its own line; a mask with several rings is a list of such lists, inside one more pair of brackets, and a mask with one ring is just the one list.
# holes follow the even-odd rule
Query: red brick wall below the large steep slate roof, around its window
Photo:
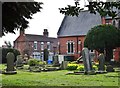
[[[59, 37], [59, 42], [60, 42], [60, 46], [59, 46], [59, 53], [60, 54], [66, 54], [67, 55], [67, 41], [73, 41], [74, 42], [74, 54], [69, 54], [69, 55], [73, 55], [75, 57], [75, 59], [77, 59], [80, 56], [80, 53], [78, 53], [79, 51], [82, 50], [83, 46], [84, 46], [84, 39], [85, 36], [78, 36], [78, 37]], [[78, 44], [78, 41], [81, 40], [81, 44]]]

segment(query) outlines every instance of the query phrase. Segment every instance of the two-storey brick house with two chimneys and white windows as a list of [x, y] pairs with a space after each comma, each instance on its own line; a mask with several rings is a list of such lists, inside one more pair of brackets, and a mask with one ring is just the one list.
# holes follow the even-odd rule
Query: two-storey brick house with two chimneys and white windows
[[49, 58], [57, 54], [58, 39], [49, 37], [49, 32], [44, 29], [43, 35], [25, 34], [20, 30], [20, 35], [14, 41], [14, 48], [18, 49], [22, 55], [44, 60], [44, 50], [49, 51]]

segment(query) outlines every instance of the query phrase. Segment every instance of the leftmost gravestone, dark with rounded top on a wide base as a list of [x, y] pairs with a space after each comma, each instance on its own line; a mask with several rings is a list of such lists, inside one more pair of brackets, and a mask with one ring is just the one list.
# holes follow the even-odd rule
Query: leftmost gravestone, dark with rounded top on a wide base
[[7, 58], [7, 69], [5, 71], [5, 74], [16, 74], [17, 72], [15, 71], [14, 68], [14, 59], [15, 59], [14, 53], [9, 52], [6, 58]]

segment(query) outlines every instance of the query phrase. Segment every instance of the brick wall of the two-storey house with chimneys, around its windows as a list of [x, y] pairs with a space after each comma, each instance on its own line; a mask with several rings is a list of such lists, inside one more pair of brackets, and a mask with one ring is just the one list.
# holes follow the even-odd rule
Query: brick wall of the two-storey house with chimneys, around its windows
[[[54, 42], [51, 43], [51, 47], [50, 47], [50, 52], [57, 52], [58, 51], [58, 47], [56, 46], [55, 50], [53, 48], [54, 46]], [[29, 54], [32, 55], [33, 52], [43, 52], [43, 50], [41, 50], [41, 42], [37, 41], [37, 50], [34, 50], [34, 41], [26, 41], [25, 36], [24, 35], [20, 35], [16, 41], [14, 41], [14, 48], [18, 49], [20, 51], [20, 53], [23, 55], [24, 50], [28, 49], [29, 50]], [[44, 49], [47, 48], [47, 42], [44, 42]]]

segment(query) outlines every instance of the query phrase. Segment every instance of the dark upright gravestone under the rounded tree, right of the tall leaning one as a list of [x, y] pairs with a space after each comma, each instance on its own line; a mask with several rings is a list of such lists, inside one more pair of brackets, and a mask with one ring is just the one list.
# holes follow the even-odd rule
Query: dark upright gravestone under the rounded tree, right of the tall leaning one
[[105, 56], [103, 53], [99, 54], [98, 60], [99, 60], [98, 71], [105, 71]]

